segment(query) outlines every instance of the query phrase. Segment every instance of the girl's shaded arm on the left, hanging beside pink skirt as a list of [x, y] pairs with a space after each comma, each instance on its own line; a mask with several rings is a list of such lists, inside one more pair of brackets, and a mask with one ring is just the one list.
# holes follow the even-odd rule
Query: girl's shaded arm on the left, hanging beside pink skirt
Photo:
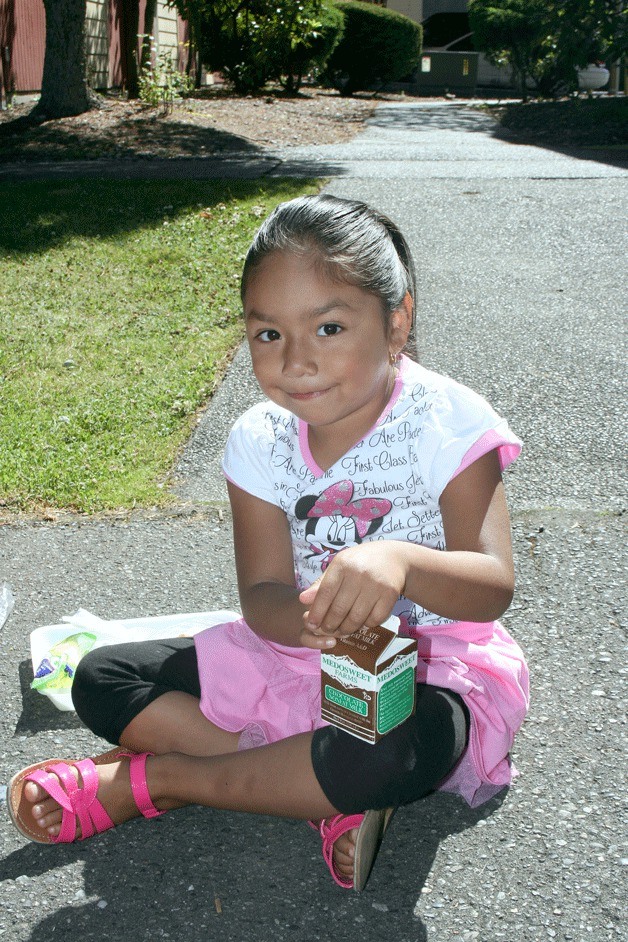
[[[227, 483], [238, 590], [247, 624], [269, 641], [300, 647], [306, 606], [299, 601], [288, 520], [280, 507]], [[312, 648], [330, 646], [324, 636]], [[331, 642], [333, 643], [333, 642]]]

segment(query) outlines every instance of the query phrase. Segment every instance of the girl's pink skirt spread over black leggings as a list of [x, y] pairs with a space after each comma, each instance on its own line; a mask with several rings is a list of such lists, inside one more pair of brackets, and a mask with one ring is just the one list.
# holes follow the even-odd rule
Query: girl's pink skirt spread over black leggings
[[[417, 681], [446, 687], [465, 701], [469, 745], [443, 791], [471, 806], [488, 801], [517, 774], [509, 757], [529, 703], [523, 653], [499, 622], [454, 622], [414, 628]], [[326, 726], [321, 719], [320, 653], [258, 637], [243, 619], [194, 638], [203, 714], [240, 733], [250, 749]]]

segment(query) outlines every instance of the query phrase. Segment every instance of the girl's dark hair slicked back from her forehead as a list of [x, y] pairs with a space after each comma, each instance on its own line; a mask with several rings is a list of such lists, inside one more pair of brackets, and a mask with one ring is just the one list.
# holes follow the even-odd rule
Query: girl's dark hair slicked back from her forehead
[[386, 323], [406, 293], [414, 301], [412, 256], [395, 223], [366, 203], [329, 194], [297, 197], [273, 210], [247, 253], [242, 298], [267, 255], [312, 250], [330, 277], [376, 295]]

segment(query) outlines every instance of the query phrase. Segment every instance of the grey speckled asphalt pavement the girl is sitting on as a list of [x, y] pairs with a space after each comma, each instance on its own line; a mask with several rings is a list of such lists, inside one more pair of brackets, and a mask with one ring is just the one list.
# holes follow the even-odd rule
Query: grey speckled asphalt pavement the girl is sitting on
[[[466, 106], [426, 103], [381, 106], [349, 145], [232, 165], [316, 169], [331, 192], [393, 216], [416, 255], [423, 361], [483, 392], [524, 438], [507, 475], [518, 593], [505, 619], [532, 668], [521, 778], [475, 811], [443, 796], [402, 809], [359, 896], [330, 882], [299, 823], [190, 808], [57, 849], [5, 819], [0, 938], [626, 938], [627, 173], [596, 156], [508, 144]], [[229, 169], [203, 167], [185, 172]], [[237, 605], [217, 455], [257, 396], [241, 351], [177, 469], [177, 512], [0, 528], [0, 582], [16, 595], [1, 631], [0, 781], [100, 745], [28, 690], [32, 628], [79, 606]]]

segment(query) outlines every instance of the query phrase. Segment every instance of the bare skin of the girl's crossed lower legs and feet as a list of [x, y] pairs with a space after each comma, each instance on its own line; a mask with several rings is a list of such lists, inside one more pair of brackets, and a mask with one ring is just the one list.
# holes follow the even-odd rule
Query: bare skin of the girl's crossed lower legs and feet
[[[159, 697], [126, 727], [120, 744], [131, 752], [154, 752], [147, 761], [148, 789], [160, 809], [187, 804], [319, 820], [336, 814], [314, 774], [311, 734], [237, 752], [238, 733], [210, 723], [198, 700], [172, 692]], [[121, 824], [138, 812], [127, 762], [98, 766], [98, 798]], [[59, 833], [61, 809], [34, 782], [25, 786], [33, 816], [49, 834]], [[334, 859], [345, 875], [353, 870], [355, 832], [336, 842]]]

